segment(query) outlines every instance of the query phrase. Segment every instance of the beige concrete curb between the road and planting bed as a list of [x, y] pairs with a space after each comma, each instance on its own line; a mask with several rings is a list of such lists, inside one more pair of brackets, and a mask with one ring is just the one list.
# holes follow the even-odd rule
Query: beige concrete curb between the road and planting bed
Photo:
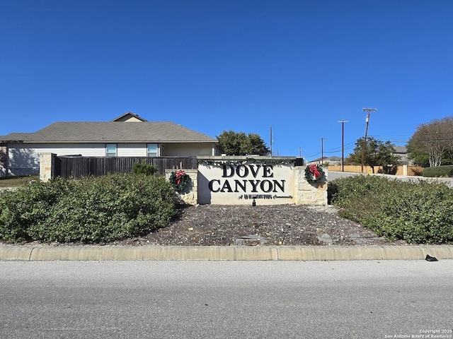
[[453, 259], [452, 245], [421, 246], [17, 246], [1, 261], [350, 261]]

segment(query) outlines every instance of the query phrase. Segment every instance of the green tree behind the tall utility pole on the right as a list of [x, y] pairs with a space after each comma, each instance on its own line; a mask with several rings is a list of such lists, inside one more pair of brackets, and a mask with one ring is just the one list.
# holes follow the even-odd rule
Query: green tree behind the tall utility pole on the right
[[[347, 161], [355, 164], [362, 163], [363, 138], [358, 138], [355, 142], [354, 153], [348, 156]], [[395, 165], [398, 157], [394, 155], [395, 145], [390, 141], [385, 143], [370, 136], [367, 138], [367, 147], [365, 148], [365, 157], [363, 165], [368, 165], [374, 173], [375, 166], [382, 166], [387, 170], [388, 165]]]

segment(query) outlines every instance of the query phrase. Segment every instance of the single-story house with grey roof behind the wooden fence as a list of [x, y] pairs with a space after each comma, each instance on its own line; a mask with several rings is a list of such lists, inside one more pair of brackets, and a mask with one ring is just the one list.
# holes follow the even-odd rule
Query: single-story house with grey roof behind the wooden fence
[[39, 174], [40, 153], [91, 157], [219, 155], [219, 141], [172, 122], [127, 112], [108, 122], [55, 122], [0, 136], [0, 177]]

